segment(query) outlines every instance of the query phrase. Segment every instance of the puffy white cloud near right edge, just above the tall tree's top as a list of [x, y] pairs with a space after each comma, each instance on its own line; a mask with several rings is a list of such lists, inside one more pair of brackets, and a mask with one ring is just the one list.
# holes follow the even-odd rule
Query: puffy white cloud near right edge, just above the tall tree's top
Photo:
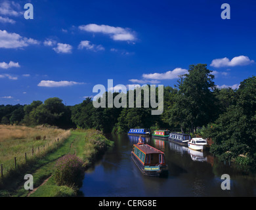
[[225, 66], [246, 66], [253, 62], [254, 60], [250, 60], [247, 56], [241, 55], [241, 56], [232, 58], [232, 60], [229, 60], [226, 57], [214, 59], [211, 62], [210, 66], [213, 66], [216, 68], [225, 67]]

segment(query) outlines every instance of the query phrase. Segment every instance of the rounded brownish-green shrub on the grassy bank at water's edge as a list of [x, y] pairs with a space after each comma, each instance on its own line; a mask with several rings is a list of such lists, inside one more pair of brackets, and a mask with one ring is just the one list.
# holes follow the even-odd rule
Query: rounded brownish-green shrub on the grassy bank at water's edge
[[83, 175], [83, 161], [72, 154], [58, 159], [53, 173], [54, 180], [59, 186], [79, 186], [83, 180]]

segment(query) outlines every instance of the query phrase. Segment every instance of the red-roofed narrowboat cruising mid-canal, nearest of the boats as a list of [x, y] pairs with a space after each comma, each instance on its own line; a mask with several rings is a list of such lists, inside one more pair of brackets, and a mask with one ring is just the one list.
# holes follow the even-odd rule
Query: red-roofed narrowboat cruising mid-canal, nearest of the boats
[[148, 144], [133, 144], [131, 159], [135, 162], [143, 175], [168, 175], [165, 154]]

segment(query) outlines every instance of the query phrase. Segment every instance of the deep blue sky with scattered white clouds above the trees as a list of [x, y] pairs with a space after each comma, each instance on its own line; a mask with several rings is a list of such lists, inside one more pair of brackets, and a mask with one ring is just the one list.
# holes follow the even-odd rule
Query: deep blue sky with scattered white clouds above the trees
[[218, 87], [236, 88], [255, 75], [255, 16], [249, 0], [0, 0], [0, 104], [57, 96], [74, 105], [108, 79], [173, 87], [198, 63]]

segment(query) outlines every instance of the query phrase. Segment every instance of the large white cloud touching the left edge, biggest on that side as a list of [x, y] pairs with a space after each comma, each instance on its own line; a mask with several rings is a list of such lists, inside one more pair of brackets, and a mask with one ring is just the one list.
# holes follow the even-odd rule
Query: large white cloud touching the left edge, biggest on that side
[[15, 49], [28, 47], [28, 45], [38, 45], [39, 41], [20, 36], [18, 33], [8, 33], [0, 30], [0, 48]]

